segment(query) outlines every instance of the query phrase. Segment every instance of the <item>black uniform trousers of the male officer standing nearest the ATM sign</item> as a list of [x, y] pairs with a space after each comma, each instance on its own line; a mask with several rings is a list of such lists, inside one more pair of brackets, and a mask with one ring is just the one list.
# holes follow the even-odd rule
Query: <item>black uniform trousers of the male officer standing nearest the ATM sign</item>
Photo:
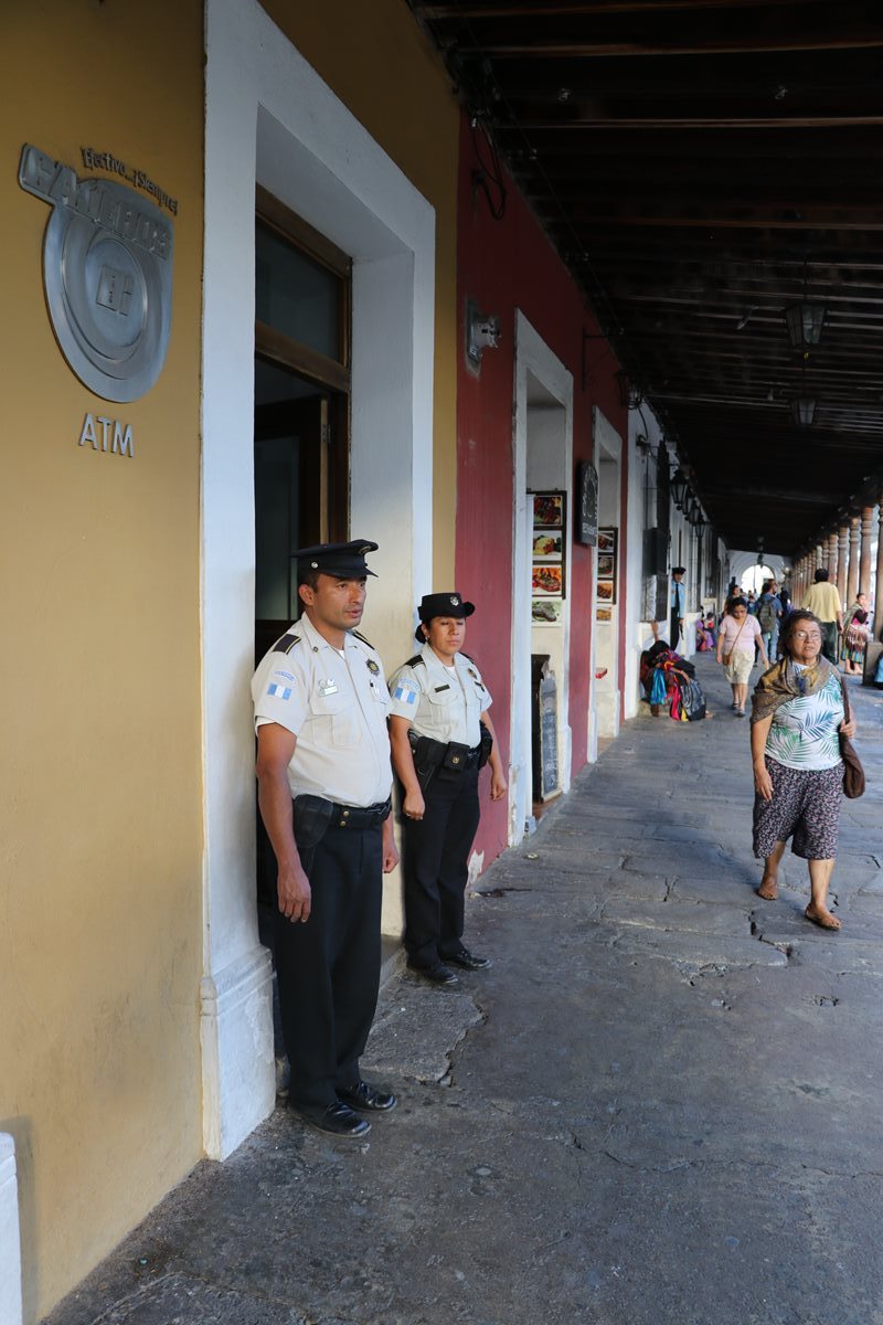
[[359, 1080], [380, 986], [383, 828], [328, 827], [301, 852], [312, 909], [275, 913], [275, 970], [291, 1102], [326, 1108]]

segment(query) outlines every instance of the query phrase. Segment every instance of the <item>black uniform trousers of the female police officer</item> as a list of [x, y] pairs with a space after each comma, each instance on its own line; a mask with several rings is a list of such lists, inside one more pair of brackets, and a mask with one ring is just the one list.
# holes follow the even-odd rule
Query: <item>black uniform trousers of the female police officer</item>
[[446, 780], [440, 771], [424, 791], [421, 820], [404, 819], [405, 950], [412, 966], [451, 957], [463, 935], [469, 852], [478, 831], [478, 768]]

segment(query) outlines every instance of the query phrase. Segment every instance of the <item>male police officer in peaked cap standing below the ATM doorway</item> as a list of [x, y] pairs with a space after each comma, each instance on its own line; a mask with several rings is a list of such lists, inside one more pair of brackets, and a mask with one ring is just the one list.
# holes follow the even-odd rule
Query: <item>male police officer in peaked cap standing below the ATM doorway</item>
[[278, 865], [289, 1102], [343, 1137], [369, 1130], [360, 1113], [396, 1104], [359, 1073], [380, 982], [381, 871], [398, 861], [389, 692], [380, 657], [355, 629], [373, 575], [365, 553], [376, 550], [357, 539], [295, 554], [303, 616], [252, 681], [258, 803]]

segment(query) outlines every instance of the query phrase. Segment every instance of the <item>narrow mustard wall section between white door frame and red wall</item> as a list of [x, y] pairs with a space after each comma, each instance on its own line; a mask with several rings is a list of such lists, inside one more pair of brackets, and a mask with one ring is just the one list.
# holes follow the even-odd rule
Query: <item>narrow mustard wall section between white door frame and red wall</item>
[[405, 0], [263, 0], [301, 54], [436, 208], [434, 588], [454, 583], [459, 109]]

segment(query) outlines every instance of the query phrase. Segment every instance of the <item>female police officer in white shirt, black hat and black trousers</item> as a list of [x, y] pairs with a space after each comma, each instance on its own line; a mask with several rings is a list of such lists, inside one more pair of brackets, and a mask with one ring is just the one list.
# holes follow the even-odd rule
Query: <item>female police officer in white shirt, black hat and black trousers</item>
[[392, 759], [404, 794], [405, 950], [412, 970], [454, 984], [447, 962], [467, 971], [490, 966], [463, 947], [463, 893], [479, 768], [490, 762], [492, 800], [506, 794], [506, 778], [491, 697], [461, 653], [474, 606], [459, 594], [426, 594], [417, 611], [422, 648], [389, 684]]

